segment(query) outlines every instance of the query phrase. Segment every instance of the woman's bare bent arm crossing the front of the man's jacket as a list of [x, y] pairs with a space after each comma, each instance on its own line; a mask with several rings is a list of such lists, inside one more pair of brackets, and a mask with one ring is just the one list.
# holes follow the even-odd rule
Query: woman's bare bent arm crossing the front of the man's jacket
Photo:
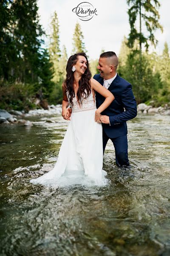
[[93, 78], [91, 78], [91, 88], [94, 89], [96, 92], [100, 93], [103, 97], [105, 97], [105, 101], [96, 110], [96, 115], [100, 116], [100, 113], [102, 113], [106, 108], [108, 108], [108, 106], [113, 102], [114, 96], [109, 90], [107, 90]]

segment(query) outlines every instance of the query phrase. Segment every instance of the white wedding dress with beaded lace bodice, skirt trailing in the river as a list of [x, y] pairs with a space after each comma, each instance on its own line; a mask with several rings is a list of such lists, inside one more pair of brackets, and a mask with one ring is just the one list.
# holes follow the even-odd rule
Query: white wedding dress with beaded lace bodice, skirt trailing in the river
[[95, 111], [92, 91], [87, 98], [82, 97], [81, 102], [77, 102], [76, 96], [73, 98], [71, 121], [57, 163], [50, 172], [30, 180], [31, 183], [55, 187], [107, 184], [107, 173], [102, 170], [102, 124], [95, 122]]

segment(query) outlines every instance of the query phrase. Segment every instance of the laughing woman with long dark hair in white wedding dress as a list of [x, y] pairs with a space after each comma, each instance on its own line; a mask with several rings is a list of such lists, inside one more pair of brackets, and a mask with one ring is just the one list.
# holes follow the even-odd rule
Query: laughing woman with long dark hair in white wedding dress
[[[91, 78], [88, 59], [84, 52], [71, 55], [66, 71], [66, 79], [62, 84], [62, 117], [71, 121], [54, 168], [30, 182], [47, 186], [105, 185], [107, 173], [102, 170], [100, 116], [114, 100], [114, 96]], [[105, 97], [105, 101], [98, 109], [96, 109], [95, 91]], [[68, 105], [71, 105], [71, 117], [67, 109]]]

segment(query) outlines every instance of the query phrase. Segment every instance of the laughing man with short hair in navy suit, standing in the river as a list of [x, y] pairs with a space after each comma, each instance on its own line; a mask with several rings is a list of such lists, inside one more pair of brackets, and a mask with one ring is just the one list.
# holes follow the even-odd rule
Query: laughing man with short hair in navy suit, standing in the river
[[[118, 76], [116, 69], [118, 58], [115, 52], [104, 52], [100, 55], [94, 79], [113, 93], [115, 99], [103, 111], [100, 117], [103, 127], [103, 153], [109, 139], [113, 142], [116, 155], [116, 165], [129, 166], [127, 153], [127, 124], [126, 121], [137, 115], [136, 100], [133, 96], [132, 85]], [[105, 98], [96, 92], [96, 108]]]

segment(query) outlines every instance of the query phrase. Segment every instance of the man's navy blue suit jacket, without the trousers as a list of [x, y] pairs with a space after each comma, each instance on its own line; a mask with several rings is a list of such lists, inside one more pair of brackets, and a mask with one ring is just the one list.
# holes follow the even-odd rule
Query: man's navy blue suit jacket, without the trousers
[[[94, 79], [103, 85], [100, 74], [94, 75]], [[127, 134], [126, 121], [137, 115], [136, 100], [133, 96], [132, 85], [122, 77], [116, 76], [108, 90], [113, 93], [115, 99], [111, 105], [101, 114], [109, 116], [110, 124], [102, 124], [105, 133], [110, 138], [116, 138]], [[96, 92], [96, 108], [105, 101], [105, 98]], [[124, 111], [125, 108], [125, 111]]]

